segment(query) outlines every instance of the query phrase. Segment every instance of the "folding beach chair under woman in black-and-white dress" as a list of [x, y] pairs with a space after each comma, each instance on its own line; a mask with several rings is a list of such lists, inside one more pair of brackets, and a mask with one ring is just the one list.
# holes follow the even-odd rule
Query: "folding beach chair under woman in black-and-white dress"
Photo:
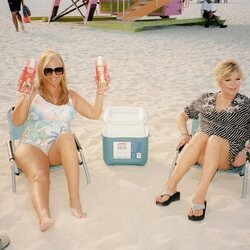
[[[192, 120], [192, 126], [191, 126], [191, 135], [193, 136], [197, 129], [199, 127], [199, 120]], [[182, 147], [183, 148], [183, 147]], [[176, 166], [176, 161], [178, 158], [178, 154], [180, 153], [180, 151], [182, 150], [182, 148], [180, 148], [179, 150], [176, 151], [176, 155], [175, 158], [173, 160], [171, 169], [170, 169], [170, 173], [169, 173], [169, 178], [172, 176], [175, 166]], [[248, 167], [250, 164], [250, 154], [247, 153], [247, 160], [246, 163], [240, 167], [235, 167], [232, 169], [228, 169], [228, 170], [217, 170], [217, 172], [222, 172], [222, 173], [231, 173], [231, 174], [239, 174], [240, 177], [243, 178], [242, 180], [242, 192], [241, 192], [241, 198], [245, 198], [247, 195], [247, 175], [248, 175]], [[200, 167], [200, 165], [197, 163], [194, 165], [195, 167]]]

